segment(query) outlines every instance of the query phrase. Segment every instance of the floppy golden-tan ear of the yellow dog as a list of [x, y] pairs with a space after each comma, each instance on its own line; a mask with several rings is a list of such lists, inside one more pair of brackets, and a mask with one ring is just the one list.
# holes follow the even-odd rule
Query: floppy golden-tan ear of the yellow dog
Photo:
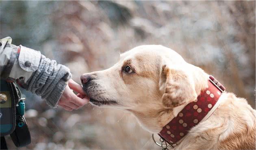
[[162, 67], [159, 87], [163, 91], [163, 105], [168, 108], [195, 101], [197, 98], [195, 85], [189, 74], [183, 70], [171, 69], [167, 65]]

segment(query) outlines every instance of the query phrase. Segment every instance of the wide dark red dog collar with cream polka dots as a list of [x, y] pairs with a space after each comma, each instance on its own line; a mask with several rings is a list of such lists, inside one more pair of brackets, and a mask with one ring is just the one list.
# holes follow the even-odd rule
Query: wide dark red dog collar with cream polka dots
[[187, 104], [175, 118], [163, 127], [158, 135], [171, 146], [177, 146], [192, 127], [200, 123], [201, 120], [207, 119], [216, 110], [218, 105], [215, 104], [223, 91], [225, 91], [225, 87], [210, 75], [208, 87], [201, 92], [197, 100]]

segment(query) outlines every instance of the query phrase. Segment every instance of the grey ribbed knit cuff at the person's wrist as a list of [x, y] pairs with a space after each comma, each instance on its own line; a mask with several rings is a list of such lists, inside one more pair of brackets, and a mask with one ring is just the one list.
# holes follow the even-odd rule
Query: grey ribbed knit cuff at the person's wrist
[[69, 78], [71, 78], [69, 68], [41, 55], [38, 69], [26, 82], [25, 89], [36, 93], [42, 99], [46, 99], [50, 106], [55, 107]]

